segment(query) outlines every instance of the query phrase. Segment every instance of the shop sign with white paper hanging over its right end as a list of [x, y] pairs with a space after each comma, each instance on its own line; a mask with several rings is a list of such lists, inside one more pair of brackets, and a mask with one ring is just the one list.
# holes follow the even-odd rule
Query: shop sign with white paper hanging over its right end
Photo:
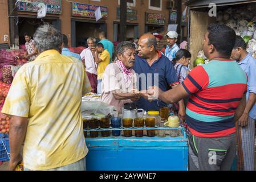
[[[72, 16], [83, 16], [87, 18], [95, 18], [95, 10], [99, 6], [86, 5], [82, 3], [72, 2]], [[100, 6], [100, 11], [103, 19], [108, 18], [108, 8], [105, 6]]]

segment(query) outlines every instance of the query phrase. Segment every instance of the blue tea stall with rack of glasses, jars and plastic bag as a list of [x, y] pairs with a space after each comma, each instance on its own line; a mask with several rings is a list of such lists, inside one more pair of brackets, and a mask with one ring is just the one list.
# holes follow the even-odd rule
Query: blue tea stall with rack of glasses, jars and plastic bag
[[166, 107], [145, 112], [132, 104], [118, 114], [96, 94], [83, 97], [87, 170], [187, 171], [186, 131], [178, 117], [169, 114]]

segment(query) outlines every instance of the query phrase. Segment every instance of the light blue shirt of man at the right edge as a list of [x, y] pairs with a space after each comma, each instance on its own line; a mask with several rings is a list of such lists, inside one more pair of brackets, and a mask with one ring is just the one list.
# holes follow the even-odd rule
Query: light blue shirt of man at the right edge
[[[247, 54], [246, 57], [238, 63], [238, 65], [248, 76], [246, 93], [246, 98], [248, 100], [250, 93], [256, 94], [256, 59], [254, 59], [250, 54]], [[250, 110], [249, 116], [256, 119], [256, 104], [254, 104], [253, 108]]]

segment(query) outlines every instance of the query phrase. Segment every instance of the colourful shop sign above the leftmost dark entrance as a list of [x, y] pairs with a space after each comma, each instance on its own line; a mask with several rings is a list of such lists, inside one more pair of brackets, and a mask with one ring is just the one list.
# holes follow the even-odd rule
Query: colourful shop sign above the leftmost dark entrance
[[38, 12], [40, 3], [47, 5], [47, 13], [62, 14], [62, 0], [20, 0], [17, 2], [17, 10]]

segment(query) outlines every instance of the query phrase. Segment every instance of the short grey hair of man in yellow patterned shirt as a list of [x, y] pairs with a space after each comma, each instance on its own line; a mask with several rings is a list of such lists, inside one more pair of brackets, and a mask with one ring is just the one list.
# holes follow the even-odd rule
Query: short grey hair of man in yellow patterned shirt
[[38, 52], [50, 49], [60, 50], [62, 46], [62, 34], [50, 24], [44, 24], [37, 28], [34, 34], [35, 48]]

